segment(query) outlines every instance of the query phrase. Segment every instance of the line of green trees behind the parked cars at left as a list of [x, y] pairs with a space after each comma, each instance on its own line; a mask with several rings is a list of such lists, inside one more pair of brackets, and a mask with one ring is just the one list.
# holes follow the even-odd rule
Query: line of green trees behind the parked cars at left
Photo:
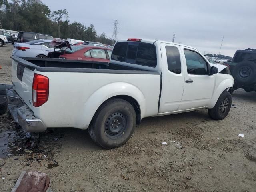
[[97, 35], [93, 24], [71, 23], [66, 9], [52, 11], [41, 0], [0, 0], [0, 28], [113, 44], [105, 33]]

